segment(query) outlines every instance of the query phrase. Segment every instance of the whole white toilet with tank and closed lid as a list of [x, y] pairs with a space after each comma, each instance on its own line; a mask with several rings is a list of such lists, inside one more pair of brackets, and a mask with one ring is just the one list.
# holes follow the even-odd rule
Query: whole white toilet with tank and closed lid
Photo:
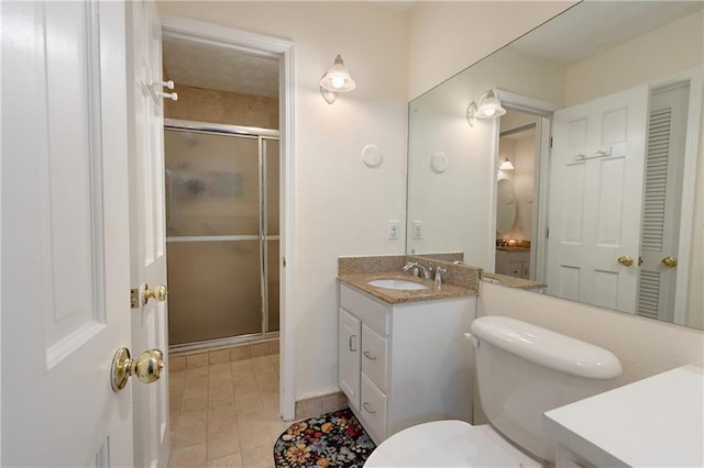
[[[364, 464], [381, 467], [540, 467], [554, 461], [542, 413], [609, 389], [610, 352], [505, 316], [471, 326], [482, 409], [491, 424], [435, 421], [384, 441]], [[469, 398], [469, 395], [468, 395]]]

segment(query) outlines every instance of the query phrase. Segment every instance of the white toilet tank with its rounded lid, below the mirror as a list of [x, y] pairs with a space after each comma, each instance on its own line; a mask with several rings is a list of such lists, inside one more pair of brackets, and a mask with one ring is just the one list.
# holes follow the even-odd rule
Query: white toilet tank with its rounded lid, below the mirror
[[622, 372], [610, 352], [505, 316], [472, 322], [482, 409], [507, 438], [554, 461], [542, 413], [606, 391]]

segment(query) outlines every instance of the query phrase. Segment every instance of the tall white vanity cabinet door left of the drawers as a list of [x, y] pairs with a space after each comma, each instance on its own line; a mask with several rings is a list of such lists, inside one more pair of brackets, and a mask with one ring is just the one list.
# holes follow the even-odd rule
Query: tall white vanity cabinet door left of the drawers
[[344, 309], [340, 309], [338, 381], [353, 408], [360, 408], [361, 344], [362, 322]]

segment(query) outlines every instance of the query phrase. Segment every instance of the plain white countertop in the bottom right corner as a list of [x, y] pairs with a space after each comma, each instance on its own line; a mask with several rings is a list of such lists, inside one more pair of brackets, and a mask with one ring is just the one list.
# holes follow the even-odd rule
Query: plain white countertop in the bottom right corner
[[704, 369], [679, 367], [548, 411], [543, 426], [600, 467], [704, 467]]

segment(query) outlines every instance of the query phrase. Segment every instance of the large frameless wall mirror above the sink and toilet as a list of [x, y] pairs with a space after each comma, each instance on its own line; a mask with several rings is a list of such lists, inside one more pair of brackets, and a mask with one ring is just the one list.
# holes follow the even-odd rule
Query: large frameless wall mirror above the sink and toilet
[[704, 330], [702, 7], [584, 1], [411, 101], [407, 252]]

